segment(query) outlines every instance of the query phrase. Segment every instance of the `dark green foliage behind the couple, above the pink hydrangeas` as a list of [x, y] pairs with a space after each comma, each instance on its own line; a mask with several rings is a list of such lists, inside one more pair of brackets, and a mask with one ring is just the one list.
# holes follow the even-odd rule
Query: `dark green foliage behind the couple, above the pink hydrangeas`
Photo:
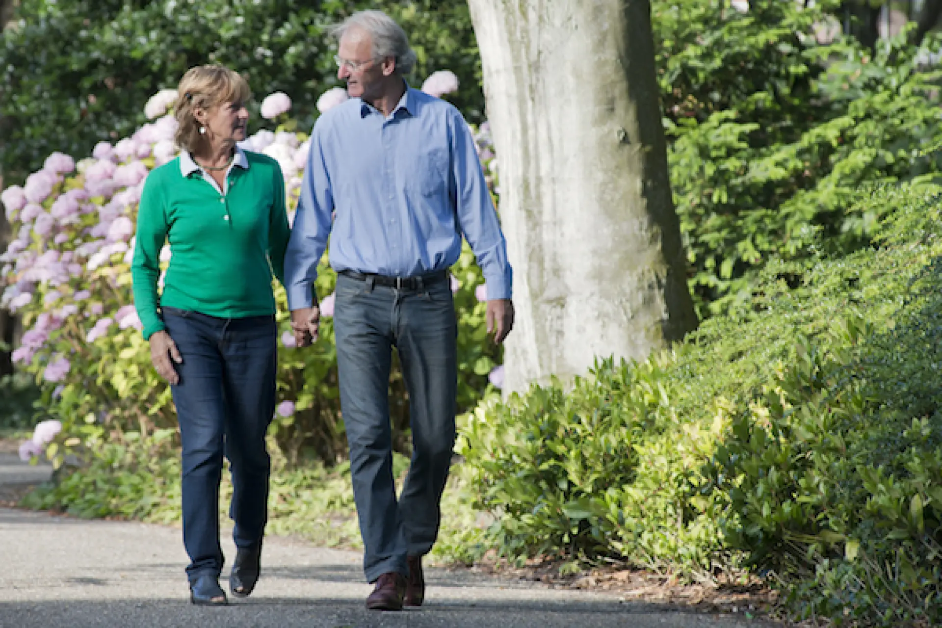
[[89, 154], [102, 139], [130, 135], [147, 99], [202, 63], [242, 72], [259, 98], [291, 94], [301, 128], [310, 128], [317, 97], [337, 84], [330, 26], [360, 8], [386, 10], [410, 33], [416, 76], [455, 72], [454, 102], [481, 120], [477, 43], [463, 2], [33, 0], [0, 34], [0, 171], [18, 183], [49, 153]]

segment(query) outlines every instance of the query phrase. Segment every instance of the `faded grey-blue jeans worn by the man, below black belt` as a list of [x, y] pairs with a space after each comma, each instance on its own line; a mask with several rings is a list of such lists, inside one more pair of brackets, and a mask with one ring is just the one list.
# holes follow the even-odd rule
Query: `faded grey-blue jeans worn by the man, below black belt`
[[[337, 278], [333, 330], [340, 404], [368, 582], [408, 573], [438, 536], [439, 502], [455, 444], [457, 334], [447, 281], [417, 291]], [[389, 420], [392, 347], [409, 391], [413, 458], [397, 501]]]

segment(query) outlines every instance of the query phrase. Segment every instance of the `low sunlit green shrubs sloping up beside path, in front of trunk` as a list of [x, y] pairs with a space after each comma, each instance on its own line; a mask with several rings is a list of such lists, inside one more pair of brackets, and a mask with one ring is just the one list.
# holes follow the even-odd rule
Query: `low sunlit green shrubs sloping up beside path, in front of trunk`
[[802, 618], [942, 620], [940, 195], [864, 192], [878, 247], [774, 263], [682, 346], [480, 407], [459, 447], [487, 542], [755, 569]]

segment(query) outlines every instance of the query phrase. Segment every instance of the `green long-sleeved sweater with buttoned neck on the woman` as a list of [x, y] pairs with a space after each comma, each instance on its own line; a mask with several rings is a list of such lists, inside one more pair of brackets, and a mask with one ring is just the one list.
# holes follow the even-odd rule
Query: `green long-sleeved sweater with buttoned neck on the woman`
[[144, 338], [164, 330], [157, 314], [160, 250], [171, 263], [159, 304], [239, 318], [275, 313], [271, 270], [284, 282], [288, 227], [278, 162], [245, 152], [248, 169], [233, 167], [220, 196], [199, 171], [184, 176], [180, 157], [147, 177], [138, 209], [131, 275]]

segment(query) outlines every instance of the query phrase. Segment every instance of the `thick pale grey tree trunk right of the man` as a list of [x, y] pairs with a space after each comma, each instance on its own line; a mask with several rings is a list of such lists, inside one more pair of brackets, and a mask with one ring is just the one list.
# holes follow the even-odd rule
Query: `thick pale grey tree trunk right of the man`
[[469, 0], [517, 321], [505, 390], [696, 326], [648, 0]]

